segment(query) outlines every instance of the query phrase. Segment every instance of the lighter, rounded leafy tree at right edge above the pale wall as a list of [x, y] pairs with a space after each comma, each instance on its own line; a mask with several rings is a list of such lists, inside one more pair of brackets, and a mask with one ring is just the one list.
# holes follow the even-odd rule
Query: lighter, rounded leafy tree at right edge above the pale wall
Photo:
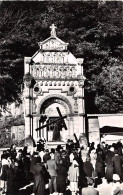
[[110, 59], [110, 65], [104, 67], [96, 78], [97, 95], [95, 104], [102, 113], [119, 112], [123, 109], [123, 69], [116, 58]]

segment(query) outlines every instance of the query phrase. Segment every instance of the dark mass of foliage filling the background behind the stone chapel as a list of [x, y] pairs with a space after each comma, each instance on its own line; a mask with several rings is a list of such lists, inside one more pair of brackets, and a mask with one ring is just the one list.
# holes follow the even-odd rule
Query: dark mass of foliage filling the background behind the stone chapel
[[24, 56], [39, 49], [55, 23], [57, 36], [84, 58], [86, 112], [123, 111], [121, 13], [121, 1], [2, 2], [0, 105], [21, 101]]

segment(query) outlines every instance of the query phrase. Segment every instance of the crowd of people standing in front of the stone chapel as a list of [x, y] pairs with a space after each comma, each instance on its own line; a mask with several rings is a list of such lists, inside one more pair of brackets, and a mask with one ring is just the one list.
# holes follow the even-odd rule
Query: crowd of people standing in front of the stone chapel
[[104, 141], [47, 148], [40, 140], [33, 152], [13, 144], [1, 155], [0, 193], [18, 195], [33, 185], [34, 195], [122, 195], [123, 144]]

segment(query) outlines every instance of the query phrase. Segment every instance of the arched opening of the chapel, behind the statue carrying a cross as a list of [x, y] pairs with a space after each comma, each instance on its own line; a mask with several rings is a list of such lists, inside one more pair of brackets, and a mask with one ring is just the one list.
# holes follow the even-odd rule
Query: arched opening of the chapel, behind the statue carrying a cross
[[[39, 127], [46, 125], [39, 132], [40, 137], [46, 137], [47, 141], [63, 141], [65, 140], [65, 128], [63, 126], [63, 120], [68, 128], [68, 121], [66, 118], [62, 119], [57, 111], [59, 108], [62, 117], [67, 117], [70, 114], [70, 108], [68, 104], [60, 97], [49, 97], [42, 101], [40, 107], [41, 118], [39, 120]], [[46, 134], [47, 132], [47, 134]]]

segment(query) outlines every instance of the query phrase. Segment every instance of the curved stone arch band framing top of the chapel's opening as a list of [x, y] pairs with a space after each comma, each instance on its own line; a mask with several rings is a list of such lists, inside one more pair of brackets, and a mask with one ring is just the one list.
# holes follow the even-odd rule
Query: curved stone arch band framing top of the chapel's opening
[[42, 105], [45, 103], [45, 101], [47, 101], [48, 99], [51, 99], [51, 98], [58, 98], [58, 99], [62, 100], [63, 102], [65, 102], [69, 108], [69, 114], [73, 114], [72, 105], [69, 102], [69, 100], [66, 97], [59, 95], [59, 94], [51, 94], [51, 95], [48, 95], [45, 98], [43, 98], [38, 105], [37, 114], [40, 114], [40, 109], [41, 109]]

